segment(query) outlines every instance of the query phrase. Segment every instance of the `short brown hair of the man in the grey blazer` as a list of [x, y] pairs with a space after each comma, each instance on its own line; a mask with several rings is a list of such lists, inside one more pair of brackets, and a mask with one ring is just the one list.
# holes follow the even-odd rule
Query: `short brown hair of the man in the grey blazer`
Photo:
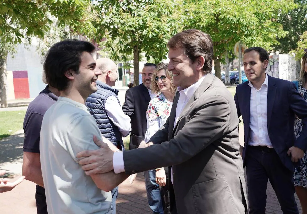
[[200, 56], [205, 58], [202, 70], [204, 73], [211, 73], [213, 59], [213, 43], [208, 34], [197, 29], [188, 29], [177, 33], [169, 39], [168, 48], [183, 48], [184, 53], [192, 62]]

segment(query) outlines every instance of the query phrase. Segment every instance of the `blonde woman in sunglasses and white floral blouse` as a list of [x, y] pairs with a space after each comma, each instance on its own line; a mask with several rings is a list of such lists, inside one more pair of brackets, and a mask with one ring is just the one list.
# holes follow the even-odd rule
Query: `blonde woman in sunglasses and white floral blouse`
[[[167, 70], [167, 65], [168, 64], [165, 63], [158, 64], [152, 76], [150, 88], [153, 93], [158, 95], [149, 102], [146, 112], [147, 131], [145, 133], [145, 142], [148, 142], [151, 136], [153, 136], [165, 124], [173, 105], [176, 87], [173, 85], [173, 74]], [[152, 179], [150, 179], [150, 181], [146, 181], [145, 179], [147, 194], [149, 193], [148, 190], [150, 190], [150, 188], [155, 188], [153, 182], [160, 185], [164, 197], [164, 203], [161, 201], [161, 203], [164, 204], [164, 213], [170, 213], [169, 188], [167, 181], [168, 168], [162, 167], [148, 172], [151, 174], [150, 177], [152, 177]], [[153, 180], [154, 178], [155, 180]], [[148, 202], [150, 203], [150, 200], [148, 200]], [[163, 210], [161, 214], [163, 214]]]

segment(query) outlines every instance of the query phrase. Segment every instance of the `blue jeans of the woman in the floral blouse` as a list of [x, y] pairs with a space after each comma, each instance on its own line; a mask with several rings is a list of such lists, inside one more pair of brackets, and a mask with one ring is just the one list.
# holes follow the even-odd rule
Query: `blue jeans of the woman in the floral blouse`
[[153, 214], [164, 214], [159, 185], [156, 183], [156, 170], [144, 172], [147, 200]]

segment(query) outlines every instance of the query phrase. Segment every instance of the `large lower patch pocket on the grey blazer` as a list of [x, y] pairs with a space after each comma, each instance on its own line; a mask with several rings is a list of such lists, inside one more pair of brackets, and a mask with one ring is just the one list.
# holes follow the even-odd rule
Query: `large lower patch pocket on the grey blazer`
[[196, 213], [238, 214], [225, 177], [192, 186]]

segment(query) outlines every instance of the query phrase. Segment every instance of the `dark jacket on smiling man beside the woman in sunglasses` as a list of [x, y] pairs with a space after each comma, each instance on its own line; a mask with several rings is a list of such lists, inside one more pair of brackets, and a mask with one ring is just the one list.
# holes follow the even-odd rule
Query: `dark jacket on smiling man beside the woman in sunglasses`
[[143, 85], [132, 87], [126, 91], [123, 112], [131, 118], [131, 134], [129, 149], [138, 148], [147, 131], [146, 111], [150, 102], [148, 89]]

